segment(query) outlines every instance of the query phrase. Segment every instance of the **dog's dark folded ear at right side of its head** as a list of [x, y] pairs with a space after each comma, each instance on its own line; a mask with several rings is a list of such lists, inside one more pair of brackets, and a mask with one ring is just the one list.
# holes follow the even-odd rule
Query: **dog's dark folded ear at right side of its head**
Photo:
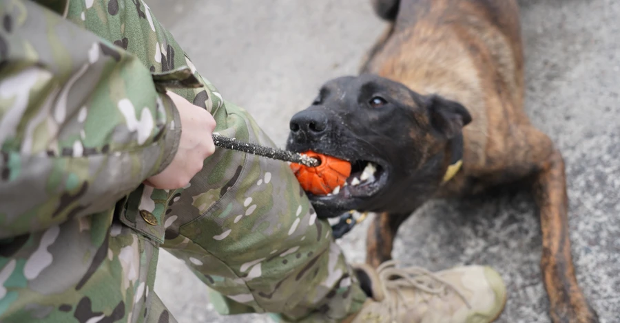
[[471, 115], [462, 104], [441, 96], [426, 97], [426, 109], [428, 109], [433, 129], [447, 139], [455, 137], [464, 126], [471, 122]]

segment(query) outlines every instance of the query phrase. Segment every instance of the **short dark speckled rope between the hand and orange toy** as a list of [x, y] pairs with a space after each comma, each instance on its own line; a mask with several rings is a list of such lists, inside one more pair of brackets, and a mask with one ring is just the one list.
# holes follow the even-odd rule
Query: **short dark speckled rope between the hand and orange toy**
[[270, 148], [260, 146], [258, 144], [240, 142], [234, 138], [225, 137], [218, 133], [213, 134], [213, 142], [218, 147], [231, 149], [233, 151], [241, 151], [243, 153], [249, 153], [271, 159], [290, 161], [291, 163], [302, 164], [308, 167], [316, 167], [320, 165], [320, 161], [316, 158], [293, 153], [291, 151], [283, 151], [278, 148]]

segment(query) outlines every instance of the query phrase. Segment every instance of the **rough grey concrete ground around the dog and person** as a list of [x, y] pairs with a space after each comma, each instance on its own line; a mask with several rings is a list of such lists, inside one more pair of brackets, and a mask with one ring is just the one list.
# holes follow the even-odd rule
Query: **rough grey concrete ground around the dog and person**
[[[203, 76], [282, 146], [291, 115], [325, 80], [355, 74], [383, 26], [367, 1], [147, 2]], [[526, 109], [566, 158], [577, 277], [601, 322], [620, 322], [620, 1], [520, 2]], [[341, 241], [351, 260], [364, 259], [364, 227]], [[499, 322], [549, 322], [539, 221], [524, 192], [434, 201], [401, 232], [394, 255], [404, 265], [491, 265], [510, 293]], [[205, 287], [165, 252], [159, 269], [155, 289], [180, 322], [269, 322], [218, 316]]]

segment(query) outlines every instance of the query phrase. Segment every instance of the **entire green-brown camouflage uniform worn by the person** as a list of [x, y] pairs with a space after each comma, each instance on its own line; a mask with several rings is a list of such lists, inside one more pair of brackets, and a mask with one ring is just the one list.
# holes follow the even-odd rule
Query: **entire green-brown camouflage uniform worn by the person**
[[0, 0], [0, 19], [0, 322], [176, 322], [153, 291], [160, 247], [220, 293], [220, 313], [360, 309], [287, 164], [218, 148], [183, 189], [141, 184], [182, 131], [165, 89], [218, 133], [273, 145], [143, 1]]

